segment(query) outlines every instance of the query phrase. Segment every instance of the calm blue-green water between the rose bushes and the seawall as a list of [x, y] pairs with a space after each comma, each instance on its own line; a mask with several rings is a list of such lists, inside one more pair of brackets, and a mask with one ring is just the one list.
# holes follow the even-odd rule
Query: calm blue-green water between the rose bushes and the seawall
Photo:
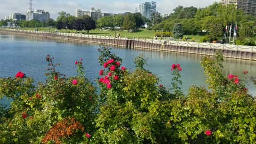
[[[55, 63], [61, 63], [57, 71], [67, 76], [76, 75], [75, 61], [83, 59], [85, 75], [94, 83], [102, 69], [98, 62], [100, 52], [97, 44], [68, 43], [66, 41], [42, 39], [17, 35], [0, 34], [0, 77], [14, 77], [18, 71], [22, 71], [28, 77], [34, 77], [35, 81], [46, 79], [47, 62], [45, 57], [50, 54], [55, 57]], [[143, 53], [147, 60], [146, 69], [161, 77], [160, 84], [171, 86], [171, 66], [180, 63], [182, 67], [182, 90], [187, 93], [191, 85], [205, 86], [205, 76], [200, 65], [202, 55], [150, 51], [142, 49], [126, 49], [124, 47], [111, 47], [111, 51], [117, 53], [123, 59], [122, 66], [132, 71], [134, 69], [134, 57]], [[248, 77], [256, 76], [256, 61], [225, 58], [223, 63], [225, 75], [234, 74], [243, 78], [243, 71], [249, 71]], [[251, 81], [247, 81], [246, 87], [252, 95], [256, 95], [256, 87]], [[3, 100], [2, 100], [3, 102]]]

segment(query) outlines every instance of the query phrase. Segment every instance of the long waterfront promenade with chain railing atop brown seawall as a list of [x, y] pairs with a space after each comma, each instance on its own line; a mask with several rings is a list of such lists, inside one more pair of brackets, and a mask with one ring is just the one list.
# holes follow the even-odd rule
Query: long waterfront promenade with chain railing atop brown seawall
[[103, 43], [107, 45], [122, 46], [127, 48], [138, 47], [142, 49], [194, 53], [201, 55], [214, 55], [217, 50], [221, 50], [223, 53], [223, 57], [256, 61], [256, 46], [164, 41], [160, 39], [141, 39], [136, 37], [129, 39], [127, 37], [111, 37], [71, 33], [48, 33], [44, 31], [20, 29], [0, 29], [0, 32], [44, 38], [63, 39], [66, 41], [77, 41], [81, 43]]

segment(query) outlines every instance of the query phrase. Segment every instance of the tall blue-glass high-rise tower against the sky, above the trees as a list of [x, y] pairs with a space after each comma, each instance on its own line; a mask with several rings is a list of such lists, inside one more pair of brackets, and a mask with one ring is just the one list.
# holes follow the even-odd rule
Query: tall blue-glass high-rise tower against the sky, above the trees
[[156, 12], [156, 2], [144, 2], [139, 5], [140, 14], [151, 20], [151, 16], [154, 12]]

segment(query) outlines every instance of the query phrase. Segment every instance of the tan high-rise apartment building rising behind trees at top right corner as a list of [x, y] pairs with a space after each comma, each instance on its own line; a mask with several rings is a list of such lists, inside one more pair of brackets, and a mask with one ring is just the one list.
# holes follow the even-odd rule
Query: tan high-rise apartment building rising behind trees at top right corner
[[256, 16], [256, 0], [221, 0], [221, 4], [234, 4], [237, 9], [242, 9], [246, 14]]

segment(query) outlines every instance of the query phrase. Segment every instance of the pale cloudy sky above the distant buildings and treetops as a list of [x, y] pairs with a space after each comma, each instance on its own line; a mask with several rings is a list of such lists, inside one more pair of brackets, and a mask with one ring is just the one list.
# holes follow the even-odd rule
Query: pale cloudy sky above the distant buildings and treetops
[[[152, 1], [152, 0], [151, 0]], [[161, 14], [170, 14], [178, 5], [183, 7], [206, 7], [219, 0], [153, 0], [156, 2], [156, 11]], [[26, 14], [29, 10], [29, 0], [0, 0], [0, 20], [11, 13]], [[75, 15], [76, 9], [90, 11], [91, 7], [100, 9], [102, 13], [124, 13], [134, 12], [139, 7], [141, 0], [33, 0], [33, 9], [44, 10], [50, 13], [50, 18], [56, 19], [58, 12], [65, 11]]]

